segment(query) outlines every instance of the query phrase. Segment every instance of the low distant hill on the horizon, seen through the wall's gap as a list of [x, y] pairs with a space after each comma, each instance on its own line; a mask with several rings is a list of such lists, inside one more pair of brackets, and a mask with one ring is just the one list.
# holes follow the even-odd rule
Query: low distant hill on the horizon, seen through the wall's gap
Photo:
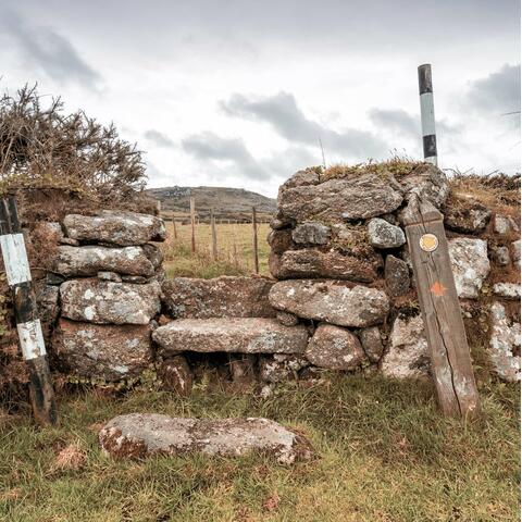
[[190, 211], [190, 197], [195, 198], [199, 215], [207, 215], [214, 209], [216, 217], [249, 215], [252, 207], [260, 214], [273, 214], [276, 200], [244, 188], [228, 187], [163, 187], [150, 188], [147, 192], [161, 201], [162, 212], [186, 214]]

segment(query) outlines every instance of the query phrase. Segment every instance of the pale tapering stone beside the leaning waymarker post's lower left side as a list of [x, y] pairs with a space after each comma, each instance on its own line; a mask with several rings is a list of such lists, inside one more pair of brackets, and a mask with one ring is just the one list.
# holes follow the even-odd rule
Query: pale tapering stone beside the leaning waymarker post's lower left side
[[389, 336], [388, 351], [381, 360], [387, 377], [418, 378], [427, 375], [430, 357], [421, 315], [397, 318]]

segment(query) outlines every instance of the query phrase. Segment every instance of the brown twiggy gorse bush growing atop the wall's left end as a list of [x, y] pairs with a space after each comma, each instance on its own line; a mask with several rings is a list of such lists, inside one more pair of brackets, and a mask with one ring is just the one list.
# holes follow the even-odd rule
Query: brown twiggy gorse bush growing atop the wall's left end
[[36, 86], [0, 98], [0, 196], [38, 190], [114, 207], [144, 189], [145, 169], [113, 124], [66, 114], [60, 98], [45, 104]]

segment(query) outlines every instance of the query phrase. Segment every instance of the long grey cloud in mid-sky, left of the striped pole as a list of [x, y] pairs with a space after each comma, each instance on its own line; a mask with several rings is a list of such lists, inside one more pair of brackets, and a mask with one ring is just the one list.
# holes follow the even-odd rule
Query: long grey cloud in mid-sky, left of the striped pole
[[326, 151], [343, 157], [365, 160], [382, 158], [387, 151], [385, 144], [371, 133], [353, 128], [336, 132], [309, 120], [288, 92], [266, 97], [235, 94], [221, 101], [220, 107], [227, 115], [269, 123], [290, 142], [318, 147], [321, 139]]

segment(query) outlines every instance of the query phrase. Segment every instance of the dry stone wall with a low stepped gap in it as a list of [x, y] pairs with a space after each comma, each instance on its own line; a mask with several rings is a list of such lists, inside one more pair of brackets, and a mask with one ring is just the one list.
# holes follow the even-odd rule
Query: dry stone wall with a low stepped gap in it
[[188, 394], [209, 364], [239, 386], [315, 377], [322, 369], [425, 377], [427, 343], [401, 210], [411, 194], [445, 214], [470, 343], [487, 336], [494, 373], [520, 380], [520, 239], [509, 213], [450, 192], [419, 164], [324, 178], [297, 172], [279, 189], [269, 277], [166, 279], [163, 222], [129, 212], [49, 223], [53, 269], [37, 284], [54, 368], [128, 381], [153, 368]]

